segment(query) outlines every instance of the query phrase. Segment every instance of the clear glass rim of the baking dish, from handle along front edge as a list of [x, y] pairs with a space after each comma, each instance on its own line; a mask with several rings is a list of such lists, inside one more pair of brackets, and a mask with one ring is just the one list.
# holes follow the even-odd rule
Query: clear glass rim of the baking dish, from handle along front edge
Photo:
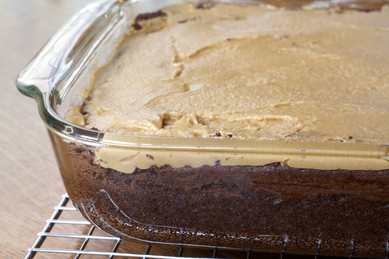
[[[63, 25], [46, 45], [39, 51], [39, 53], [23, 68], [15, 79], [15, 84], [18, 90], [28, 97], [32, 97], [37, 101], [40, 117], [46, 123], [49, 130], [56, 132], [62, 137], [66, 138], [68, 142], [85, 143], [96, 147], [103, 145], [112, 145], [119, 147], [141, 147], [141, 148], [185, 148], [185, 149], [204, 149], [212, 151], [227, 151], [233, 150], [245, 152], [269, 152], [270, 149], [280, 151], [287, 147], [289, 152], [296, 153], [299, 150], [309, 149], [317, 154], [326, 154], [338, 156], [342, 153], [347, 153], [350, 156], [366, 156], [387, 159], [389, 161], [389, 144], [361, 144], [361, 143], [341, 143], [341, 142], [303, 142], [303, 141], [288, 141], [288, 140], [268, 140], [268, 139], [236, 139], [236, 138], [183, 138], [183, 137], [158, 137], [158, 136], [144, 136], [144, 135], [121, 135], [116, 133], [107, 133], [96, 131], [94, 129], [87, 129], [71, 122], [66, 121], [61, 117], [52, 107], [53, 98], [56, 96], [56, 81], [53, 82], [53, 77], [41, 78], [33, 74], [34, 65], [38, 62], [47, 60], [49, 53], [48, 48], [53, 47], [55, 40], [63, 37], [64, 33], [69, 33], [72, 28], [72, 23], [80, 22], [80, 16], [85, 13], [97, 17], [103, 12], [116, 7], [116, 12], [124, 12], [130, 8], [131, 4], [140, 2], [142, 0], [99, 0], [92, 2], [84, 9], [77, 12], [72, 18]], [[194, 1], [202, 2], [202, 1]], [[234, 2], [234, 0], [216, 0], [214, 2]], [[245, 0], [244, 2], [252, 2]], [[97, 12], [96, 8], [100, 8]], [[102, 10], [103, 9], [103, 12]], [[85, 17], [83, 17], [85, 19]], [[84, 26], [84, 23], [81, 23]], [[90, 25], [90, 24], [89, 24]], [[78, 28], [80, 28], [79, 26]], [[88, 30], [88, 28], [84, 28]], [[74, 32], [73, 32], [74, 33]], [[102, 40], [101, 38], [100, 40]], [[100, 42], [98, 42], [100, 43]], [[95, 50], [96, 51], [96, 50]], [[58, 54], [58, 53], [57, 53]], [[46, 55], [46, 56], [45, 56]], [[44, 64], [50, 66], [50, 64]], [[47, 68], [47, 67], [46, 67]], [[39, 71], [38, 71], [39, 72]], [[53, 72], [53, 71], [51, 71]], [[57, 73], [63, 73], [63, 70]], [[32, 76], [32, 75], [33, 76]], [[57, 78], [60, 80], [61, 77]], [[119, 139], [119, 140], [118, 140]]]

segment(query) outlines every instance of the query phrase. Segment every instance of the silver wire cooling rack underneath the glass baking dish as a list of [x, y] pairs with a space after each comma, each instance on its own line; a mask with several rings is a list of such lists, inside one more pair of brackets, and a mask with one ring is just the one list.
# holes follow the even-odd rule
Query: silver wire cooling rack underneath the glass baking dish
[[[230, 249], [229, 251], [237, 251], [240, 254], [234, 254], [230, 253], [227, 255], [224, 253], [224, 250], [221, 250], [221, 248], [214, 247], [213, 250], [210, 249], [209, 247], [202, 247], [201, 249], [203, 250], [196, 250], [197, 252], [195, 253], [195, 257], [188, 257], [184, 254], [184, 247], [180, 246], [177, 248], [177, 253], [176, 254], [171, 254], [171, 255], [161, 255], [158, 254], [158, 249], [156, 252], [152, 251], [151, 248], [155, 247], [154, 244], [145, 244], [144, 245], [144, 252], [139, 253], [140, 249], [138, 244], [134, 243], [128, 243], [128, 241], [121, 240], [120, 238], [114, 237], [114, 236], [109, 236], [99, 229], [97, 229], [95, 226], [91, 225], [88, 221], [85, 220], [80, 220], [80, 215], [77, 212], [76, 208], [71, 205], [71, 203], [68, 204], [69, 197], [67, 194], [63, 194], [60, 203], [58, 206], [54, 207], [54, 212], [51, 215], [49, 219], [46, 220], [46, 225], [42, 229], [41, 232], [37, 234], [37, 239], [33, 243], [32, 247], [27, 249], [27, 254], [25, 256], [25, 259], [32, 259], [38, 254], [48, 254], [52, 253], [53, 256], [49, 258], [58, 258], [60, 254], [64, 255], [66, 254], [67, 257], [65, 258], [75, 258], [78, 259], [80, 256], [88, 258], [156, 258], [156, 259], [213, 259], [213, 258], [239, 258], [239, 259], [255, 259], [255, 258], [261, 258], [261, 259], [274, 259], [279, 257], [280, 259], [284, 259], [285, 253], [277, 253], [277, 254], [266, 254], [266, 253], [256, 253], [252, 252], [251, 250], [239, 250], [239, 249]], [[63, 212], [67, 212], [67, 216], [63, 216], [65, 219], [59, 219], [60, 215], [63, 214]], [[79, 219], [77, 219], [78, 216]], [[70, 219], [69, 219], [70, 218]], [[58, 233], [57, 231], [52, 231], [55, 226], [61, 225], [65, 229], [65, 231], [73, 231], [77, 233]], [[74, 231], [74, 229], [70, 228], [70, 226], [80, 226], [83, 231]], [[96, 231], [95, 231], [96, 230]], [[80, 233], [78, 233], [80, 232]], [[84, 234], [82, 233], [84, 232]], [[96, 233], [98, 232], [98, 233]], [[87, 233], [87, 234], [85, 234]], [[45, 240], [48, 240], [49, 238], [56, 238], [56, 246], [49, 246], [48, 248], [44, 247], [44, 242]], [[60, 238], [60, 239], [59, 239]], [[65, 240], [65, 239], [76, 239], [79, 241], [79, 245], [75, 245], [74, 247], [66, 247], [61, 248], [58, 247], [58, 244], [66, 244], [69, 245], [69, 243], [66, 242], [58, 242], [58, 240]], [[88, 243], [94, 241], [99, 241], [100, 245], [98, 245], [98, 248], [102, 248], [102, 242], [110, 242], [111, 246], [109, 251], [103, 251], [103, 250], [90, 250], [87, 248]], [[47, 242], [47, 241], [46, 241]], [[127, 242], [123, 251], [118, 251], [119, 246], [123, 243]], [[130, 245], [129, 245], [130, 244]], [[123, 247], [124, 245], [122, 245]], [[107, 246], [104, 246], [107, 247]], [[72, 249], [73, 248], [73, 249]], [[94, 246], [96, 248], [96, 245]], [[186, 249], [186, 248], [185, 248]], [[187, 250], [187, 249], [186, 249]], [[166, 250], [165, 250], [166, 251]], [[170, 250], [169, 250], [170, 251]], [[172, 250], [173, 251], [173, 250]], [[200, 251], [200, 252], [199, 252]], [[204, 253], [203, 253], [203, 252]], [[205, 253], [207, 252], [207, 253]], [[157, 253], [157, 254], [156, 254]], [[207, 254], [207, 256], [198, 256], [202, 254]], [[82, 258], [83, 258], [82, 257]], [[289, 255], [291, 258], [292, 256]], [[294, 256], [296, 258], [296, 256]], [[304, 258], [304, 259], [318, 259], [319, 255], [299, 255], [298, 258]], [[325, 257], [320, 255], [320, 257]], [[350, 258], [352, 258], [351, 256]], [[45, 257], [48, 258], [48, 257]], [[341, 257], [326, 257], [327, 259], [329, 258], [341, 258]]]

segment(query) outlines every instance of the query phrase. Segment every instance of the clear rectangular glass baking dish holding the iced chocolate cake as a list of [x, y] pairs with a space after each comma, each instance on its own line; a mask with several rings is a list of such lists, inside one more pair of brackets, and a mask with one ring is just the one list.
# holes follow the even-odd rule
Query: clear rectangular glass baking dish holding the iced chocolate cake
[[[103, 231], [141, 242], [386, 257], [388, 145], [124, 136], [64, 119], [129, 22], [181, 2], [188, 1], [91, 3], [19, 73], [16, 86], [38, 103], [77, 210]], [[93, 162], [102, 151], [123, 163], [133, 154], [164, 163], [123, 173]], [[229, 164], [233, 156], [251, 162]], [[182, 165], [169, 166], [177, 157]], [[294, 168], [301, 157], [305, 164]], [[355, 168], [346, 170], [350, 160]]]

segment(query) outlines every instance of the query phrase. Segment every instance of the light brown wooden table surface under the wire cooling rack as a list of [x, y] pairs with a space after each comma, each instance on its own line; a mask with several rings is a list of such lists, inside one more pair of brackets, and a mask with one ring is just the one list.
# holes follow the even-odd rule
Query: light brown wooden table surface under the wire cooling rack
[[[14, 78], [40, 47], [88, 0], [0, 1], [0, 251], [1, 258], [23, 258], [65, 193], [51, 144], [37, 105], [20, 94]], [[64, 218], [80, 218], [77, 212]], [[56, 225], [53, 232], [87, 234], [87, 226]], [[98, 233], [98, 229], [95, 233]], [[101, 232], [101, 231], [100, 231]], [[98, 233], [104, 235], [103, 233]], [[45, 248], [79, 249], [83, 240], [47, 238]], [[112, 249], [114, 243], [93, 240], [86, 250]], [[123, 242], [118, 252], [144, 253], [146, 245]], [[157, 246], [152, 254], [178, 255], [178, 248]], [[184, 250], [184, 256], [212, 256], [212, 250]], [[245, 258], [239, 252], [219, 257]], [[253, 254], [252, 258], [280, 255]], [[293, 257], [293, 256], [286, 256]], [[38, 254], [35, 258], [74, 258], [65, 254]], [[108, 258], [81, 256], [81, 258]], [[116, 257], [115, 257], [116, 258]], [[293, 258], [304, 258], [294, 256]], [[305, 257], [306, 258], [306, 257]], [[310, 257], [312, 258], [312, 257]]]

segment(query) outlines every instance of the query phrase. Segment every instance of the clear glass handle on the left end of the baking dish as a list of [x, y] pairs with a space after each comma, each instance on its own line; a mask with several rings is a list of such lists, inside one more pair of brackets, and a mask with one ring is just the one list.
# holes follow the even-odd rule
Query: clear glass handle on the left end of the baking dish
[[38, 101], [68, 73], [76, 73], [72, 68], [97, 47], [93, 39], [109, 30], [115, 16], [124, 15], [119, 12], [124, 2], [100, 0], [74, 14], [16, 77], [19, 91]]

